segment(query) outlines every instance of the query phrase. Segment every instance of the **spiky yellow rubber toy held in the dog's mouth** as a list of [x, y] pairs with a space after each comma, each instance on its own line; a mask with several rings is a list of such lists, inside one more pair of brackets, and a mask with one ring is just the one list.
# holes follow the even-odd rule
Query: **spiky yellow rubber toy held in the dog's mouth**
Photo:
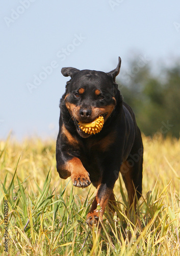
[[80, 126], [80, 129], [88, 134], [96, 134], [99, 133], [103, 127], [104, 124], [104, 117], [103, 116], [99, 116], [97, 117], [94, 121], [92, 121], [91, 123], [82, 123], [79, 122], [78, 123]]

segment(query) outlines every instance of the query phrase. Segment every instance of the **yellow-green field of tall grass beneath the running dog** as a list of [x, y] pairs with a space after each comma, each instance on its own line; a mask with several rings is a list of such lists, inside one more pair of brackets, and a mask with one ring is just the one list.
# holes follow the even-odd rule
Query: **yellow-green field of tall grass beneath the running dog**
[[0, 254], [180, 255], [179, 141], [143, 136], [143, 142], [138, 215], [125, 215], [120, 177], [114, 189], [117, 215], [105, 212], [98, 231], [85, 224], [95, 188], [76, 188], [59, 178], [56, 141], [1, 141]]

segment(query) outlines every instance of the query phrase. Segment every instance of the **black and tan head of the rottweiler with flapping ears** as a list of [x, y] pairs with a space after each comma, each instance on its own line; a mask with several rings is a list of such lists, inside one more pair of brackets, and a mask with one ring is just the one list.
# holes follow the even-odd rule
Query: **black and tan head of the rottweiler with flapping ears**
[[80, 129], [79, 122], [90, 123], [100, 115], [106, 122], [113, 112], [117, 93], [115, 78], [119, 74], [120, 66], [119, 57], [116, 69], [109, 73], [62, 68], [61, 73], [71, 77], [66, 85], [64, 101], [81, 137], [87, 138], [90, 135]]

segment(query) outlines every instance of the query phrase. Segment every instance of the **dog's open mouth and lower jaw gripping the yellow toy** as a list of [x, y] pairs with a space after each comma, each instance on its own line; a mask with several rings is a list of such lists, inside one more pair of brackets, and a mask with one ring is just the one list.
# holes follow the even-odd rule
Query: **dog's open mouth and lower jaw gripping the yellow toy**
[[98, 117], [94, 118], [91, 122], [89, 122], [89, 120], [81, 122], [81, 120], [79, 121], [74, 119], [77, 132], [83, 138], [88, 138], [93, 134], [99, 133], [102, 129], [102, 126], [104, 125], [104, 120], [107, 115], [108, 113], [99, 115]]

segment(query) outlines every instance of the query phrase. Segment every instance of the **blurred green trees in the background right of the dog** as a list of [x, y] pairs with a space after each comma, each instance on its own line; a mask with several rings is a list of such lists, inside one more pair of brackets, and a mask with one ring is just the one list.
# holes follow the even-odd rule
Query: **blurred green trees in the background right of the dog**
[[147, 136], [159, 132], [179, 138], [179, 64], [163, 68], [157, 76], [151, 74], [148, 65], [137, 67], [133, 60], [128, 72], [122, 74], [119, 89], [124, 101], [134, 110], [141, 131]]

